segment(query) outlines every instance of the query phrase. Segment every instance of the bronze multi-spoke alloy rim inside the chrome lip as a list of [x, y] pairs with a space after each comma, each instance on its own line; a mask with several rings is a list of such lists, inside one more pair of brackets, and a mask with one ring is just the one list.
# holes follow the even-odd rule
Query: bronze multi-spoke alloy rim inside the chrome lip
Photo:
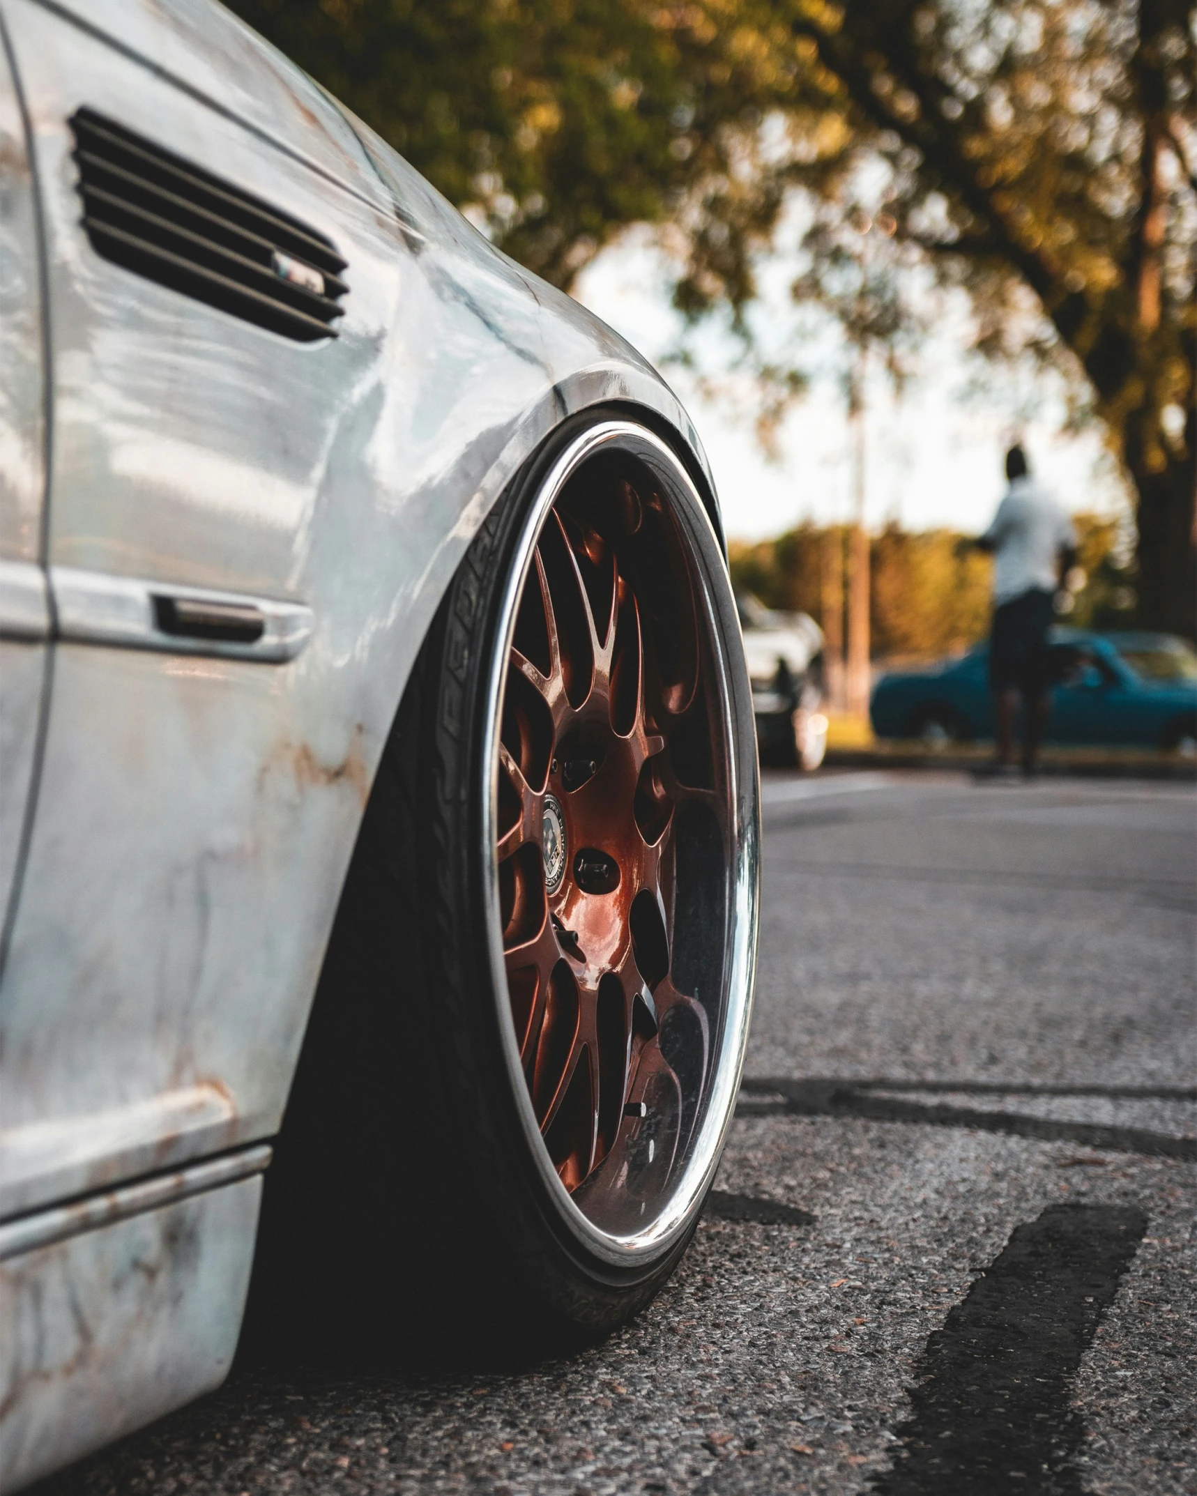
[[664, 476], [600, 447], [537, 516], [497, 735], [519, 1070], [557, 1177], [616, 1236], [660, 1215], [738, 1043], [718, 969], [735, 726]]

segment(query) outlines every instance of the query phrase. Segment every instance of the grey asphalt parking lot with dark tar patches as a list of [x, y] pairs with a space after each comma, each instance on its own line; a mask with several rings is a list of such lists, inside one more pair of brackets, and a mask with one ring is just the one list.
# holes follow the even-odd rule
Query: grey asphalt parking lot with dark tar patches
[[40, 1489], [1197, 1493], [1197, 794], [766, 785], [747, 1082], [682, 1270], [522, 1375], [239, 1369]]

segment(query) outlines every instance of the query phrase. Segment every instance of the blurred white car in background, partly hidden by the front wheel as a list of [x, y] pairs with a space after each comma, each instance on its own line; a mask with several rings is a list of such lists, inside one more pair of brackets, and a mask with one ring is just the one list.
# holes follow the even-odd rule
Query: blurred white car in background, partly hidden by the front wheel
[[762, 761], [817, 769], [827, 751], [823, 630], [808, 613], [766, 607], [736, 594]]

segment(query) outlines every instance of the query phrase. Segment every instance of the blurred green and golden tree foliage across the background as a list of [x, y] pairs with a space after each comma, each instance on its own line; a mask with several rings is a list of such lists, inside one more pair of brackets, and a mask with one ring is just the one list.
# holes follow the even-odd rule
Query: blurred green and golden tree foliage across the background
[[[792, 295], [829, 308], [862, 361], [901, 378], [919, 331], [913, 274], [962, 289], [974, 346], [1062, 370], [1128, 480], [1130, 551], [1092, 521], [1077, 621], [1194, 634], [1193, 4], [232, 6], [557, 284], [630, 224], [657, 226], [675, 307], [730, 316], [766, 440], [803, 375], [757, 346], [745, 311], [795, 193], [811, 254]], [[950, 542], [872, 536], [874, 652], [983, 628], [982, 571], [961, 570]], [[766, 600], [805, 598], [818, 616], [809, 545], [796, 530], [736, 564]]]

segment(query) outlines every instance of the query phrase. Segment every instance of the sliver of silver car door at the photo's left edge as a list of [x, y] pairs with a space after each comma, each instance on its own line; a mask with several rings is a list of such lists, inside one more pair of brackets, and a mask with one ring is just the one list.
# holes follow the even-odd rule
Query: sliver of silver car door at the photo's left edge
[[[45, 420], [37, 203], [0, 36], [0, 929], [37, 767], [49, 613], [42, 565]], [[0, 938], [0, 962], [6, 938]]]

